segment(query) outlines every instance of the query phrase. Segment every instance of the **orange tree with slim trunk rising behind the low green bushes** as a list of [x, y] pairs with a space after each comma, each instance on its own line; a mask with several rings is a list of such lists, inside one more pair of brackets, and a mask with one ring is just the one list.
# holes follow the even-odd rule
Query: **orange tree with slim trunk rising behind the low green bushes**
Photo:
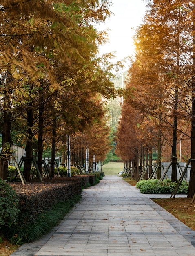
[[[142, 33], [147, 29], [143, 25]], [[152, 32], [150, 31], [150, 34]], [[137, 46], [135, 61], [129, 69], [128, 78], [126, 80], [126, 98], [128, 103], [134, 109], [142, 112], [142, 115], [151, 115], [158, 122], [158, 165], [161, 166], [161, 148], [162, 148], [162, 117], [166, 113], [165, 102], [167, 95], [164, 90], [164, 76], [162, 63], [162, 55], [152, 47], [147, 47], [148, 34], [144, 40]], [[138, 43], [137, 43], [138, 44]], [[142, 48], [142, 44], [144, 45]], [[147, 48], [147, 49], [146, 49]], [[161, 61], [161, 62], [160, 62]], [[156, 63], [156, 65], [153, 65]], [[160, 177], [160, 168], [158, 168], [157, 176]]]

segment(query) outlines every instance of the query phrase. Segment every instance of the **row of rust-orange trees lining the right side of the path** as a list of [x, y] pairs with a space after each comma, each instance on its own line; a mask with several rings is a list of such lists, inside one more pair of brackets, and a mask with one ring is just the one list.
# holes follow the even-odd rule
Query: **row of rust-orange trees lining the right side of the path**
[[158, 151], [157, 178], [160, 178], [162, 159], [170, 161], [171, 158], [172, 181], [175, 181], [177, 145], [182, 139], [182, 143], [188, 145], [182, 159], [187, 162], [191, 158], [188, 197], [193, 197], [195, 2], [147, 0], [146, 3], [146, 15], [134, 37], [136, 50], [126, 79], [117, 153], [130, 162], [138, 161], [141, 155], [142, 163], [144, 151], [151, 156], [155, 148]]

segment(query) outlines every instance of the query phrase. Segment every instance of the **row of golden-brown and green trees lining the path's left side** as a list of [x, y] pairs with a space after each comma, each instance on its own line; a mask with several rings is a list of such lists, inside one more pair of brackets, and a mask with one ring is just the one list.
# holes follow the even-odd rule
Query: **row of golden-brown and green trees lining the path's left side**
[[111, 71], [122, 64], [111, 63], [112, 54], [98, 55], [107, 36], [95, 24], [111, 15], [110, 5], [107, 0], [1, 1], [1, 178], [7, 179], [13, 142], [26, 150], [26, 181], [33, 150], [42, 173], [43, 148], [52, 149], [54, 175], [55, 152], [66, 150], [67, 134], [75, 154], [91, 147], [97, 160], [105, 157], [109, 128], [102, 99], [118, 94]]

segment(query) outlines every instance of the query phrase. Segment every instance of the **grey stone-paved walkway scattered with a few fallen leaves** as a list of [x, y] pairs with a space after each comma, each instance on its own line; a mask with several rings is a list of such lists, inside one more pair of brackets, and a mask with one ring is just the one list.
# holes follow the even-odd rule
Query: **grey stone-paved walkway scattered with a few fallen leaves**
[[195, 231], [149, 199], [162, 195], [143, 195], [117, 176], [82, 195], [50, 234], [11, 256], [195, 256]]

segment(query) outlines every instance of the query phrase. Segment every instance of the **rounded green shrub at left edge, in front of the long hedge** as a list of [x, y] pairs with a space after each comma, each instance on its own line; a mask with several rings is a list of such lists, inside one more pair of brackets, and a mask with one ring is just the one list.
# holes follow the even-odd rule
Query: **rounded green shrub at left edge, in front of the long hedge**
[[11, 226], [17, 222], [19, 214], [19, 199], [16, 192], [6, 181], [0, 179], [0, 228]]

